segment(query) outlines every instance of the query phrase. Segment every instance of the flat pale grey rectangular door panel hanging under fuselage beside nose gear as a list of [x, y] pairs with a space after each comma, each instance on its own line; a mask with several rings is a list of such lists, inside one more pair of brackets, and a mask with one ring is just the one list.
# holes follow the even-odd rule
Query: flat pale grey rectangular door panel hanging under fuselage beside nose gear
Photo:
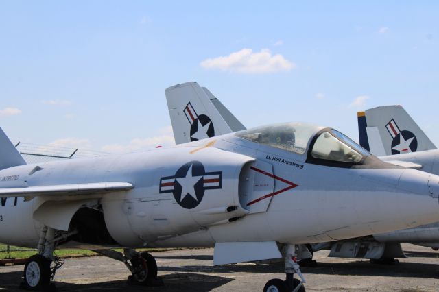
[[282, 258], [276, 241], [215, 243], [213, 265]]

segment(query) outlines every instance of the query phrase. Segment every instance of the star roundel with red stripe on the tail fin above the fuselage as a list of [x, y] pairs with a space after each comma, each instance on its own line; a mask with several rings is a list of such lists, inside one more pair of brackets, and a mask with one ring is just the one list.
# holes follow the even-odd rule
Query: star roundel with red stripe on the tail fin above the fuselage
[[207, 117], [206, 114], [198, 115], [190, 102], [183, 112], [185, 112], [187, 121], [191, 124], [191, 141], [198, 141], [215, 136], [215, 128], [213, 127], [211, 118]]

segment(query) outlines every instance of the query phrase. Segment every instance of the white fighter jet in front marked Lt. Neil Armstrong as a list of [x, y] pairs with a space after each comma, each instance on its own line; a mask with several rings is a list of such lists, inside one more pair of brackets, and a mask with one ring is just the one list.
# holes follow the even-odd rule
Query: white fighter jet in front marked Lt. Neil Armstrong
[[[180, 117], [210, 136], [215, 125], [194, 109]], [[383, 162], [331, 127], [281, 123], [196, 139], [27, 165], [0, 131], [0, 242], [38, 247], [25, 287], [47, 289], [62, 265], [57, 248], [97, 250], [126, 263], [132, 282], [156, 284], [154, 258], [134, 248], [215, 246], [214, 265], [283, 257], [286, 280], [264, 291], [305, 291], [302, 244], [439, 221], [438, 176]]]

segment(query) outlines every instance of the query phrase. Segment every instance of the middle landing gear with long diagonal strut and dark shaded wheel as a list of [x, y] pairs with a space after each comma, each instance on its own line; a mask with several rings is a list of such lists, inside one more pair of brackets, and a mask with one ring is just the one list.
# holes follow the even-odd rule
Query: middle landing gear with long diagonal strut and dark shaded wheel
[[161, 278], [157, 277], [157, 263], [154, 256], [147, 252], [136, 252], [126, 248], [123, 253], [115, 250], [93, 250], [98, 254], [108, 256], [115, 260], [125, 263], [131, 271], [128, 277], [128, 284], [137, 284], [145, 286], [163, 286]]

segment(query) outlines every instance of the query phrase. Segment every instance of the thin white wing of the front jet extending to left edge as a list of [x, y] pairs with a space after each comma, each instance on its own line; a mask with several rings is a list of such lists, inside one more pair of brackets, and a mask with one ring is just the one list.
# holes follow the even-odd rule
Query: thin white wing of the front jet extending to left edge
[[51, 186], [24, 186], [0, 188], [0, 197], [81, 196], [128, 191], [134, 188], [129, 182], [93, 182], [88, 184], [54, 184]]

